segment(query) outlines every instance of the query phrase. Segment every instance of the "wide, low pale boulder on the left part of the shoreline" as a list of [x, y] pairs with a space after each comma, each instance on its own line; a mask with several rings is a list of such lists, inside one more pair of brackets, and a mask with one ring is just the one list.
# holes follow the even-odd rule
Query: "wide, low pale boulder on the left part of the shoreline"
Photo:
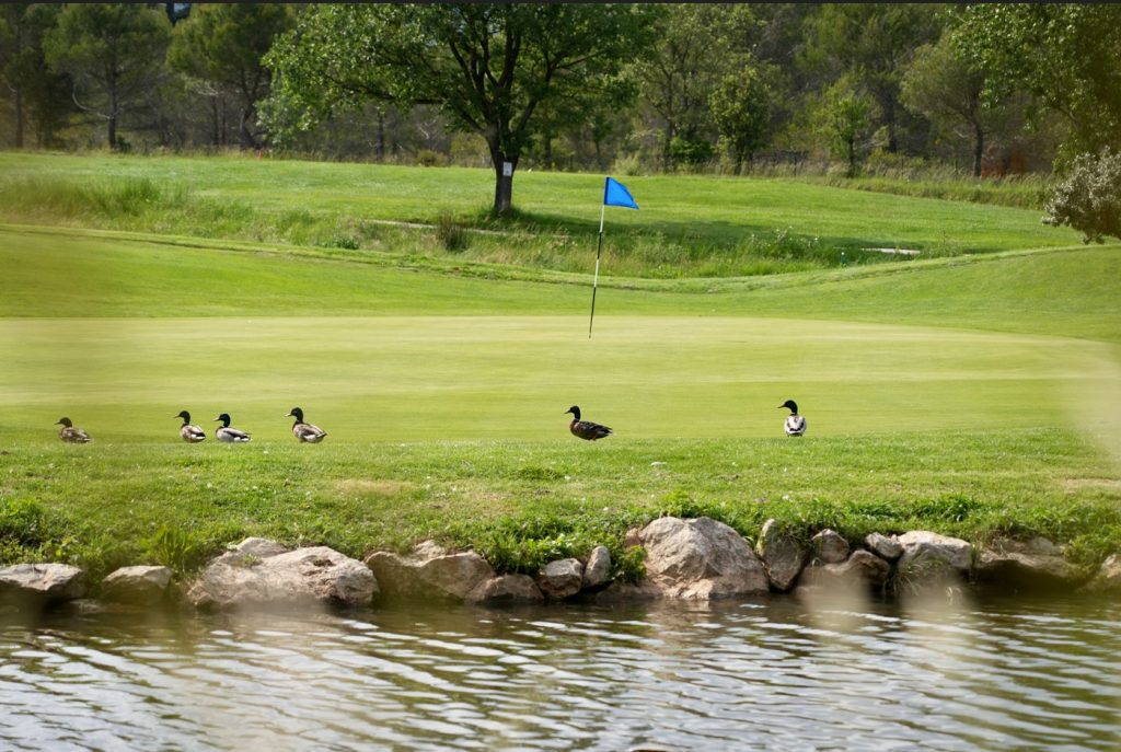
[[289, 606], [308, 603], [367, 605], [378, 592], [370, 568], [326, 546], [258, 559], [239, 551], [211, 561], [187, 591], [202, 609]]

